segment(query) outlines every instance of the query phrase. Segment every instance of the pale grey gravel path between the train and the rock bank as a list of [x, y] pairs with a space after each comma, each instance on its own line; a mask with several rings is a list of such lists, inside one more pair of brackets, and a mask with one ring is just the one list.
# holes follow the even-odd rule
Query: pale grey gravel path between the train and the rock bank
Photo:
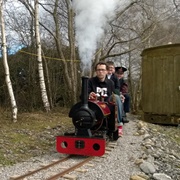
[[102, 159], [94, 168], [83, 174], [81, 180], [128, 180], [132, 174], [140, 172], [134, 160], [140, 156], [142, 136], [135, 136], [137, 119], [128, 116], [130, 122], [123, 127], [123, 136], [118, 139], [117, 146], [110, 155]]

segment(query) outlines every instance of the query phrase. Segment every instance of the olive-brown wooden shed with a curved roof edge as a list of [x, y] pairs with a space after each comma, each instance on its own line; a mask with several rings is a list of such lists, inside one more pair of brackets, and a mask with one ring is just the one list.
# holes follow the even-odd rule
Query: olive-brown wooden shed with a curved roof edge
[[180, 124], [180, 44], [142, 52], [143, 119], [158, 124]]

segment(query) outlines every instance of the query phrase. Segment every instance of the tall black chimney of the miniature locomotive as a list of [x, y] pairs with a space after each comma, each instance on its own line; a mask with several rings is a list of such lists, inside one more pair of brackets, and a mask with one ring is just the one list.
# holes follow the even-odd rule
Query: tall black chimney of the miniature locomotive
[[88, 77], [82, 77], [81, 101], [84, 107], [88, 107]]

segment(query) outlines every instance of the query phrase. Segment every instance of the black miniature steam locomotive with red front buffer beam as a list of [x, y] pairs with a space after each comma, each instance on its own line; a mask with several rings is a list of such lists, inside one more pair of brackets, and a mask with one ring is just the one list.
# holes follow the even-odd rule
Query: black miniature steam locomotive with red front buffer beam
[[59, 153], [102, 156], [108, 140], [118, 139], [115, 103], [88, 99], [88, 77], [82, 77], [81, 102], [70, 112], [75, 131], [56, 137]]

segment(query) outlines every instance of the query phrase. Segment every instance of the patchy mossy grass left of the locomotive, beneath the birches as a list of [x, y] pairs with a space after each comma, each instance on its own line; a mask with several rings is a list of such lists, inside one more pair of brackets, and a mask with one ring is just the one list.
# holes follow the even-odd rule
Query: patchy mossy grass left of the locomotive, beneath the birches
[[[1, 112], [0, 112], [1, 113]], [[72, 128], [68, 110], [18, 114], [13, 123], [8, 112], [0, 115], [0, 165], [12, 165], [55, 151], [55, 138]]]

